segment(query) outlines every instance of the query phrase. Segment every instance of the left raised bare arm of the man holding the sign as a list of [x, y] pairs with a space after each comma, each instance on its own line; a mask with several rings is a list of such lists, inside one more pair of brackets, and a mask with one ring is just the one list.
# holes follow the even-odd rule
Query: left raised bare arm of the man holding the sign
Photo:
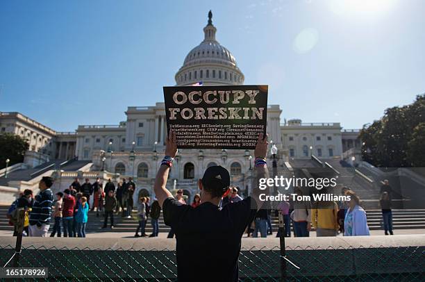
[[155, 185], [153, 185], [153, 192], [155, 192], [156, 199], [158, 199], [161, 207], [163, 207], [165, 199], [173, 197], [172, 193], [165, 188], [165, 185], [167, 184], [169, 169], [173, 165], [176, 154], [176, 133], [170, 130], [165, 140], [165, 158], [161, 162], [158, 173], [156, 174]]

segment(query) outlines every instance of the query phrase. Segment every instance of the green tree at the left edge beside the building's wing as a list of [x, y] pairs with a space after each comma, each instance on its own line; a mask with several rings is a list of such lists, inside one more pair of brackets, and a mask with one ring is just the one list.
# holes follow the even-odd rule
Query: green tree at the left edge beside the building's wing
[[25, 151], [28, 150], [28, 142], [24, 138], [15, 134], [0, 135], [0, 169], [6, 167], [6, 159], [10, 160], [10, 165], [22, 163]]

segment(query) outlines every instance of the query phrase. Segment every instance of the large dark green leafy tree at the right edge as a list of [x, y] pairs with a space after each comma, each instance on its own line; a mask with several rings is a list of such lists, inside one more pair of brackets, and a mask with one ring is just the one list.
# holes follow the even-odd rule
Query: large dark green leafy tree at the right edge
[[419, 126], [422, 122], [425, 122], [425, 94], [418, 95], [410, 105], [387, 108], [381, 119], [360, 131], [363, 160], [376, 167], [417, 167], [419, 162], [410, 151], [424, 151], [425, 143], [411, 141], [423, 140], [424, 131]]

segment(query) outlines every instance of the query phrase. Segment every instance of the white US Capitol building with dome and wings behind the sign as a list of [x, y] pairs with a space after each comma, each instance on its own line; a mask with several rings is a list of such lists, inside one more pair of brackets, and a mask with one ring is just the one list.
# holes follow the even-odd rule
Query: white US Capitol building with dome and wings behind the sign
[[[242, 85], [244, 74], [235, 57], [216, 39], [212, 13], [203, 28], [203, 41], [186, 56], [175, 75], [176, 85]], [[160, 85], [162, 86], [162, 85]], [[160, 88], [158, 88], [160, 89]], [[273, 95], [273, 93], [270, 93]], [[342, 131], [340, 123], [282, 123], [279, 105], [267, 108], [267, 133], [278, 149], [278, 167], [285, 162], [319, 158], [342, 158], [360, 149], [358, 130]], [[91, 160], [93, 171], [105, 170], [133, 176], [138, 190], [152, 194], [153, 179], [164, 156], [167, 125], [164, 103], [128, 107], [126, 121], [117, 125], [80, 125], [76, 132], [57, 132], [20, 113], [1, 113], [1, 133], [26, 138], [30, 148], [25, 162], [35, 166], [47, 160]], [[231, 172], [232, 184], [249, 189], [253, 152], [243, 150], [182, 149], [172, 167], [169, 185], [185, 190], [192, 198], [197, 179], [210, 165], [222, 165]], [[172, 188], [172, 187], [170, 187]]]

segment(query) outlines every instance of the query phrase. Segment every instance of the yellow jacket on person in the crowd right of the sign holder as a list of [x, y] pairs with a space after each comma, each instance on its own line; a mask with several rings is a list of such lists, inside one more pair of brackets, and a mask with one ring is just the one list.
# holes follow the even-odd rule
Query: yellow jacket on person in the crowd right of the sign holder
[[316, 236], [336, 236], [338, 229], [338, 204], [335, 201], [317, 201], [311, 210], [311, 224]]

